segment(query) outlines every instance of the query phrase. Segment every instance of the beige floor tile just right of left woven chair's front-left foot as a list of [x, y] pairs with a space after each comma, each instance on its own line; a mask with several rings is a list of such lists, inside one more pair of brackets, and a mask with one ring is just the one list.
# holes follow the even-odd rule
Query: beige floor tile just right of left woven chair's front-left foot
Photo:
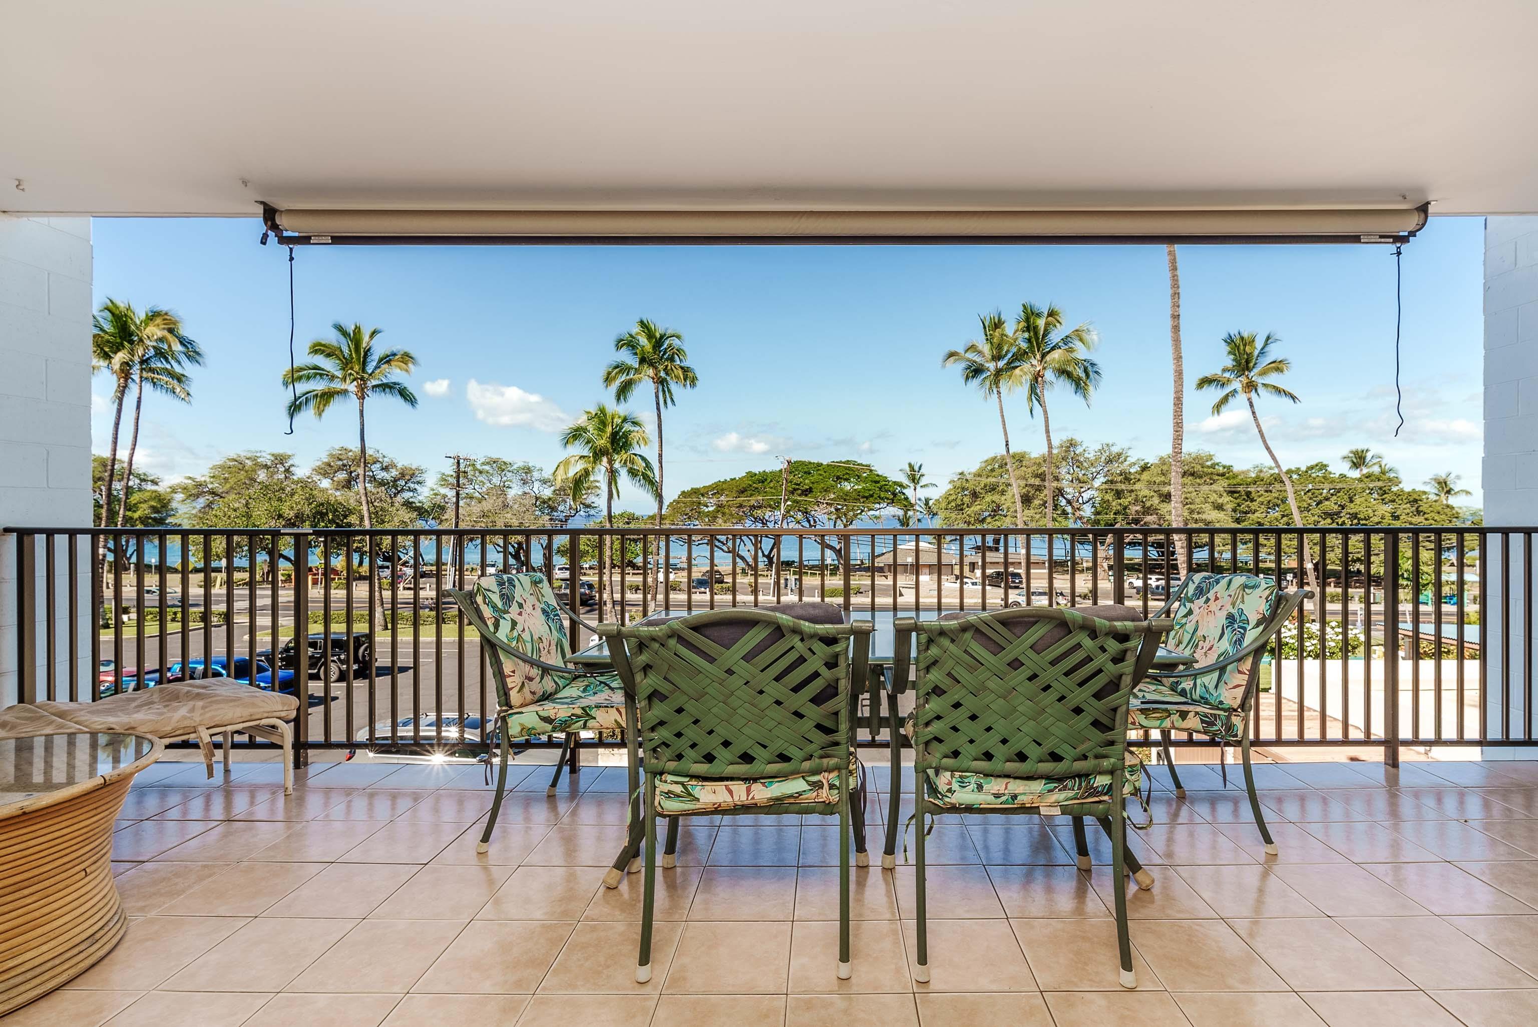
[[789, 922], [689, 922], [663, 992], [783, 995], [789, 962]]

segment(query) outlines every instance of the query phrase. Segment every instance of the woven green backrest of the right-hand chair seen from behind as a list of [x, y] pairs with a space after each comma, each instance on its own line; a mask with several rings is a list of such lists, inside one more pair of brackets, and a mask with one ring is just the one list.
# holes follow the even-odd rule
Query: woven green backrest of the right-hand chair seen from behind
[[1120, 767], [1127, 700], [1167, 627], [1069, 609], [918, 623], [918, 770], [1057, 778]]

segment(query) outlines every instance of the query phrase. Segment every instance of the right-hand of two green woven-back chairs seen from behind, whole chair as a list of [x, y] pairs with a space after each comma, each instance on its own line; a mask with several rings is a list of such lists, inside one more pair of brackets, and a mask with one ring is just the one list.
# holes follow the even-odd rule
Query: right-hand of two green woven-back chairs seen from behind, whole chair
[[[1080, 866], [1084, 816], [1110, 836], [1121, 985], [1137, 987], [1123, 873], [1154, 884], [1126, 847], [1126, 796], [1140, 764], [1126, 749], [1127, 701], [1158, 653], [1169, 621], [1106, 621], [1072, 609], [1026, 607], [937, 621], [900, 618], [894, 676], [907, 676], [918, 636], [914, 816], [918, 949], [914, 979], [929, 981], [924, 893], [927, 819], [944, 813], [1074, 818]], [[980, 953], [986, 955], [986, 953]]]

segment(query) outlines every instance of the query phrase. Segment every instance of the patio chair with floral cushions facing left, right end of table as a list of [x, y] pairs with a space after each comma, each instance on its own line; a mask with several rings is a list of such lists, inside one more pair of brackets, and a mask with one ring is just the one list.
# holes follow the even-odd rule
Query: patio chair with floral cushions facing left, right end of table
[[1220, 743], [1223, 784], [1229, 769], [1221, 763], [1229, 743], [1240, 744], [1244, 761], [1244, 789], [1266, 852], [1277, 855], [1277, 843], [1266, 827], [1255, 772], [1250, 769], [1250, 712], [1255, 709], [1260, 661], [1272, 635], [1281, 630], [1309, 590], [1281, 593], [1272, 578], [1252, 573], [1192, 573], [1157, 617], [1170, 617], [1166, 646], [1197, 658], [1184, 670], [1152, 672], [1132, 692], [1132, 726], [1158, 730], [1164, 763], [1169, 764], [1175, 795], [1186, 789], [1175, 770], [1169, 733], [1184, 730]]

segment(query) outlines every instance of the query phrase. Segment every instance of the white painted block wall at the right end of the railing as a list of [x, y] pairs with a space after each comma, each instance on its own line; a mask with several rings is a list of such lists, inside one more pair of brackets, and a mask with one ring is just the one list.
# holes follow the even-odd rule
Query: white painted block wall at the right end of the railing
[[[1538, 524], [1538, 217], [1490, 217], [1484, 221], [1484, 523]], [[1501, 636], [1501, 561], [1512, 580], [1510, 632]], [[1538, 553], [1533, 557], [1538, 573]], [[1524, 707], [1523, 626], [1535, 627], [1523, 606], [1523, 540], [1509, 552], [1490, 547], [1486, 563], [1483, 638], [1489, 653], [1490, 735], [1500, 735], [1501, 673], [1509, 673], [1512, 732], [1532, 724], [1538, 710]], [[1535, 653], [1538, 660], [1538, 653]], [[1530, 673], [1535, 669], [1527, 669]], [[1538, 673], [1535, 673], [1538, 676]], [[1532, 750], [1486, 749], [1486, 758], [1532, 759]]]

